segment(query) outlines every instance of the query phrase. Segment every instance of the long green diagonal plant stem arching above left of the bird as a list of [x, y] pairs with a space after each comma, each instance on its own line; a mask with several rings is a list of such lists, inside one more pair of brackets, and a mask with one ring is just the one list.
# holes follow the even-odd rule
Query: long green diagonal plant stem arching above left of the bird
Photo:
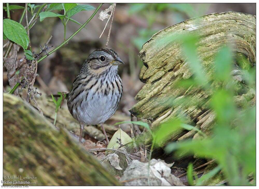
[[[61, 43], [59, 46], [57, 46], [55, 49], [53, 49], [52, 51], [50, 51], [48, 53], [48, 55], [54, 53], [56, 50], [58, 50], [60, 47], [62, 47], [63, 45], [65, 45], [70, 39], [72, 39], [80, 30], [82, 30], [86, 24], [89, 23], [89, 21], [94, 17], [94, 15], [97, 13], [97, 11], [101, 8], [101, 6], [103, 5], [103, 3], [100, 3], [100, 5], [95, 9], [94, 13], [92, 14], [92, 16], [90, 16], [90, 18], [85, 22], [85, 24], [83, 24], [75, 33], [73, 33], [66, 41], [64, 41], [63, 43]], [[39, 63], [40, 61], [42, 61], [43, 59], [45, 59], [48, 55], [45, 55], [43, 57], [41, 57], [37, 62]], [[20, 85], [20, 83], [16, 83], [16, 85], [12, 88], [12, 90], [10, 91], [10, 93], [12, 94], [16, 88]]]

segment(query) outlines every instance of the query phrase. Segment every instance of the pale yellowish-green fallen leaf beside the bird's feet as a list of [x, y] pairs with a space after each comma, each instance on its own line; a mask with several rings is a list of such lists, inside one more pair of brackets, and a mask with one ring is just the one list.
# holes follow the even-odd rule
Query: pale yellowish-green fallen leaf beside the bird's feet
[[119, 128], [111, 138], [107, 148], [118, 149], [120, 145], [128, 144], [132, 142], [130, 136]]

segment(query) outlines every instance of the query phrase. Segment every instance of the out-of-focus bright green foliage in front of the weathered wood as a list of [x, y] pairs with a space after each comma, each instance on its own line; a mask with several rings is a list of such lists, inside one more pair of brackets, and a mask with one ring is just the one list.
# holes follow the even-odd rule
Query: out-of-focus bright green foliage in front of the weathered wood
[[[201, 63], [195, 53], [195, 42], [195, 38], [184, 41], [188, 63], [190, 63], [190, 68], [195, 74], [195, 77], [190, 79], [189, 82], [192, 85], [198, 84], [207, 89], [208, 86], [202, 79], [204, 78], [204, 70], [199, 66]], [[183, 154], [195, 154], [196, 157], [216, 160], [219, 166], [211, 171], [212, 173], [207, 173], [207, 176], [202, 176], [202, 180], [197, 179], [196, 185], [201, 185], [204, 179], [209, 179], [220, 169], [229, 185], [255, 185], [255, 107], [244, 104], [240, 108], [235, 104], [234, 96], [238, 93], [230, 74], [233, 67], [233, 57], [229, 47], [223, 46], [219, 50], [215, 56], [214, 64], [214, 79], [228, 83], [228, 87], [221, 86], [213, 89], [210, 108], [216, 114], [216, 125], [212, 136], [205, 137], [202, 140], [173, 142], [168, 144], [165, 150], [168, 153], [175, 151], [181, 157]], [[250, 67], [249, 69], [253, 70], [254, 68]], [[253, 71], [250, 73], [253, 73]], [[247, 75], [254, 78], [249, 73]], [[249, 87], [253, 88], [253, 86]], [[254, 178], [252, 183], [248, 180], [248, 175], [251, 173]]]

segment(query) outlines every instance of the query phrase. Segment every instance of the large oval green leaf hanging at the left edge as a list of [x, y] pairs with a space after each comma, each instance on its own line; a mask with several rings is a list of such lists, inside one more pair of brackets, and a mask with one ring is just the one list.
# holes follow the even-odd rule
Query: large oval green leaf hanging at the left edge
[[14, 20], [4, 19], [3, 32], [9, 40], [22, 46], [24, 50], [27, 49], [29, 37], [22, 24]]

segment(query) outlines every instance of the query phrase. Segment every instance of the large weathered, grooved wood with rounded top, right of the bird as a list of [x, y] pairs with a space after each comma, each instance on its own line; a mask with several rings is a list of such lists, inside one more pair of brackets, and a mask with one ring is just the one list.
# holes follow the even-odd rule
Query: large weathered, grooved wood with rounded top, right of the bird
[[[177, 86], [178, 81], [190, 78], [193, 73], [188, 67], [188, 60], [183, 53], [181, 43], [164, 39], [175, 35], [198, 35], [197, 54], [205, 69], [204, 77], [207, 83], [217, 87], [217, 82], [213, 80], [215, 54], [223, 45], [231, 44], [234, 60], [244, 56], [249, 66], [253, 67], [256, 63], [255, 30], [255, 16], [226, 12], [189, 19], [154, 34], [139, 53], [144, 63], [139, 78], [145, 85], [136, 95], [135, 98], [139, 102], [130, 109], [130, 112], [136, 117], [151, 120], [152, 128], [182, 115], [187, 119], [188, 124], [196, 125], [202, 132], [210, 134], [215, 122], [215, 114], [208, 105], [212, 90], [204, 91], [194, 86], [186, 89]], [[254, 105], [255, 89], [250, 89], [242, 81], [242, 72], [241, 66], [235, 62], [235, 68], [231, 74], [237, 86], [236, 104], [242, 106], [249, 102]], [[181, 103], [181, 99], [185, 97], [190, 98], [188, 104]], [[196, 102], [199, 106], [192, 102]], [[170, 140], [199, 137], [202, 136], [196, 131], [188, 132], [183, 129], [177, 130]]]

